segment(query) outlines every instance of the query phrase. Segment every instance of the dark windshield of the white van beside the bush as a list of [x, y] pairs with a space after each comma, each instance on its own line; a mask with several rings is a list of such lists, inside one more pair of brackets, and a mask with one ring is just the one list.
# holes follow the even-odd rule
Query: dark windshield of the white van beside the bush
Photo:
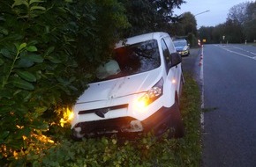
[[160, 54], [157, 40], [118, 47], [114, 51], [113, 60], [97, 69], [100, 80], [139, 74], [160, 66]]

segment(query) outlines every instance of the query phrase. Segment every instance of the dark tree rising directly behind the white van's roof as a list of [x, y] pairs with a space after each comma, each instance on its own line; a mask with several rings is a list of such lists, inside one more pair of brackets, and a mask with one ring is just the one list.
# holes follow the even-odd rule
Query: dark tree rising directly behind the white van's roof
[[183, 0], [119, 0], [124, 4], [126, 16], [132, 25], [124, 32], [124, 37], [155, 31], [169, 31], [169, 23], [176, 20], [173, 9], [183, 4]]

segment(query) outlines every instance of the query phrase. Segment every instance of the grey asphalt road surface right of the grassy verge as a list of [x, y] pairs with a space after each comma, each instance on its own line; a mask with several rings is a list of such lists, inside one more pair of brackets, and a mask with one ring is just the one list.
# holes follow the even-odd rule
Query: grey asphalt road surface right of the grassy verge
[[202, 166], [256, 166], [256, 47], [205, 45], [202, 66], [200, 50], [191, 53], [184, 71], [202, 91]]

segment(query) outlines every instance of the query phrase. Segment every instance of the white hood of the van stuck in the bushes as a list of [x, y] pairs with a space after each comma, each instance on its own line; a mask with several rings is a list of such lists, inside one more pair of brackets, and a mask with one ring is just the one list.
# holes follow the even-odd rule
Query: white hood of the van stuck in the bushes
[[161, 79], [161, 69], [89, 84], [77, 104], [121, 98], [148, 91]]

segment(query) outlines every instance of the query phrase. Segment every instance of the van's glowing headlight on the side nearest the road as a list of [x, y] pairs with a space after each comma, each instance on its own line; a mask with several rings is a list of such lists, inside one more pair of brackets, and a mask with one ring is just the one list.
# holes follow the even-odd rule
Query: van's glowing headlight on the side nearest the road
[[161, 78], [154, 86], [148, 90], [142, 97], [136, 101], [136, 106], [139, 110], [143, 110], [150, 105], [154, 100], [162, 96], [163, 79]]

